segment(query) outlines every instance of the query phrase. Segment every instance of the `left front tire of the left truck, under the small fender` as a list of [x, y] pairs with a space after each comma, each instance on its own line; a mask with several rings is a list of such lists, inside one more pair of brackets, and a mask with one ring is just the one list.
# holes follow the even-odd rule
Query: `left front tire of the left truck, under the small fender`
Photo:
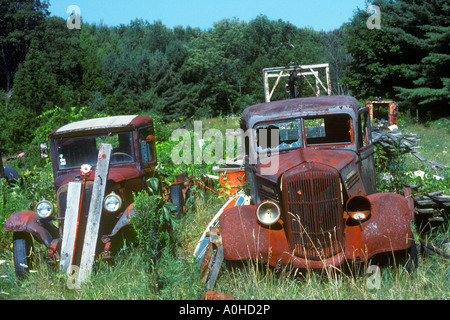
[[29, 274], [33, 259], [33, 238], [29, 233], [15, 232], [13, 235], [13, 258], [16, 276], [23, 279]]

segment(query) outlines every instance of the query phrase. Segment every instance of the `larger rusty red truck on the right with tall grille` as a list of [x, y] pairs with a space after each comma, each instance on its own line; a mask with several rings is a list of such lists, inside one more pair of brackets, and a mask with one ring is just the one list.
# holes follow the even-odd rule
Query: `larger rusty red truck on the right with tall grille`
[[240, 126], [250, 202], [223, 210], [207, 232], [208, 272], [217, 274], [221, 252], [295, 268], [382, 253], [415, 261], [409, 187], [404, 195], [377, 192], [369, 108], [348, 96], [274, 101], [245, 109]]

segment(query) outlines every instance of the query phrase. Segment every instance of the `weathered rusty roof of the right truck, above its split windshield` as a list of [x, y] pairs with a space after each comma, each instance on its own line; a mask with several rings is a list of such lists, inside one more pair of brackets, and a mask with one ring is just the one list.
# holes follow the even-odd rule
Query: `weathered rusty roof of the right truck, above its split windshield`
[[355, 118], [359, 108], [358, 100], [349, 96], [322, 96], [272, 101], [246, 108], [242, 113], [241, 127], [249, 129], [253, 128], [258, 122], [336, 113], [348, 113]]

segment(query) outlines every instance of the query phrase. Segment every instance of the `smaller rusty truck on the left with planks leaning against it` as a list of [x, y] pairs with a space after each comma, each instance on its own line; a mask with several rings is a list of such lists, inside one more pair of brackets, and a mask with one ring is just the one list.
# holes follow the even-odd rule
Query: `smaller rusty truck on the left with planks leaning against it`
[[[112, 146], [106, 192], [101, 213], [97, 253], [108, 258], [114, 240], [130, 224], [134, 214], [133, 194], [149, 191], [147, 179], [155, 176], [157, 157], [155, 129], [149, 116], [113, 116], [70, 123], [53, 130], [49, 143], [41, 144], [41, 156], [50, 155], [56, 203], [39, 202], [35, 210], [11, 214], [4, 230], [13, 233], [16, 274], [28, 272], [33, 241], [48, 248], [48, 261], [60, 258], [67, 193], [70, 182], [82, 183], [81, 205], [73, 263], [80, 260], [83, 234], [93, 192], [97, 156], [101, 144]], [[180, 184], [173, 188], [183, 194]], [[179, 201], [181, 202], [181, 201]]]

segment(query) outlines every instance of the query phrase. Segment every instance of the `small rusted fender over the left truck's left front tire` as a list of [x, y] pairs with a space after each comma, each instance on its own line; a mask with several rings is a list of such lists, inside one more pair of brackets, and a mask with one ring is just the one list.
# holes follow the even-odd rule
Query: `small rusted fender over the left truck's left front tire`
[[53, 237], [41, 224], [40, 218], [34, 211], [19, 211], [15, 212], [6, 219], [3, 228], [7, 232], [28, 232], [33, 237], [44, 244], [47, 248], [50, 247]]

